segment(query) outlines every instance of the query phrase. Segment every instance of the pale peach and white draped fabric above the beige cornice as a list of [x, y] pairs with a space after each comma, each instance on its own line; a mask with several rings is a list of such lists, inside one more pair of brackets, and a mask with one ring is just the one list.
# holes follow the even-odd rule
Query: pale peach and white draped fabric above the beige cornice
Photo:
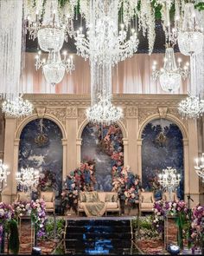
[[[166, 94], [159, 82], [151, 79], [152, 64], [157, 62], [157, 68], [163, 68], [163, 54], [136, 54], [124, 62], [119, 62], [112, 72], [112, 92], [114, 94]], [[182, 58], [182, 64], [189, 62], [188, 56], [175, 54], [176, 59]], [[52, 86], [45, 81], [41, 69], [35, 70], [35, 54], [26, 53], [25, 69], [22, 75], [23, 93], [48, 94], [90, 94], [90, 66], [88, 60], [73, 55], [75, 71], [66, 74], [61, 83]], [[182, 82], [181, 88], [175, 94], [186, 94], [189, 79]]]

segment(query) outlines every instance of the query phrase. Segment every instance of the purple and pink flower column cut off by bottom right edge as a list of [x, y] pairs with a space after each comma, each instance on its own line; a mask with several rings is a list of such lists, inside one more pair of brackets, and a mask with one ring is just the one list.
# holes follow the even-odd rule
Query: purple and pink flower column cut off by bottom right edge
[[198, 205], [193, 208], [191, 227], [194, 248], [202, 248], [204, 245], [204, 206]]

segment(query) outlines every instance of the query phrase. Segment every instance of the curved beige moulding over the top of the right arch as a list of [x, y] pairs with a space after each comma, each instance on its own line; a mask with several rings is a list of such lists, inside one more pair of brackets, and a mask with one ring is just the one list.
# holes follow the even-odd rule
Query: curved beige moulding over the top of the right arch
[[[154, 115], [148, 116], [140, 125], [139, 131], [138, 131], [138, 136], [137, 136], [138, 140], [142, 139], [143, 128], [145, 128], [145, 126], [150, 121], [160, 119], [160, 118], [161, 118], [161, 116], [159, 114], [154, 114]], [[180, 119], [178, 119], [175, 115], [170, 115], [170, 114], [167, 114], [165, 117], [163, 117], [163, 119], [167, 119], [169, 121], [174, 121], [174, 123], [181, 129], [183, 140], [188, 140], [187, 128], [185, 128], [185, 126], [183, 125], [183, 123]]]

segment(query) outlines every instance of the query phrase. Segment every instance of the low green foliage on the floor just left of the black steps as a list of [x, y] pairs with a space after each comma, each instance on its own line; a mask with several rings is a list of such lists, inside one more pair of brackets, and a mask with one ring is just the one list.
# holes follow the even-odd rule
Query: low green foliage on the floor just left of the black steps
[[[47, 239], [54, 239], [54, 218], [49, 217], [45, 224], [45, 232]], [[56, 220], [56, 239], [61, 240], [65, 232], [65, 220]]]

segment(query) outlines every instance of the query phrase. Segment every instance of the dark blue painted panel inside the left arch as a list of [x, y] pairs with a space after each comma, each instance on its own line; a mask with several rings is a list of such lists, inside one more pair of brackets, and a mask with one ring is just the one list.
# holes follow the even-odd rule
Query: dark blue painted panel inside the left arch
[[56, 196], [61, 194], [62, 143], [61, 129], [48, 119], [30, 121], [23, 129], [19, 146], [18, 168], [34, 167], [55, 177]]

